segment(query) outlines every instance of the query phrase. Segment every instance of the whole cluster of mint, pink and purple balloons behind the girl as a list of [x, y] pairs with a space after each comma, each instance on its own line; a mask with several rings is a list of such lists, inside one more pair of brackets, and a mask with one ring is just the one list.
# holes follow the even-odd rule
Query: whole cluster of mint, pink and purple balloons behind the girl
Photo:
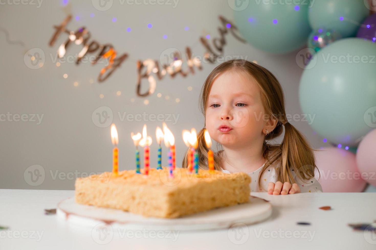
[[311, 126], [328, 142], [358, 147], [356, 154], [340, 147], [316, 152], [324, 192], [361, 192], [366, 181], [376, 187], [374, 6], [367, 0], [304, 2], [243, 1], [232, 8], [238, 30], [255, 48], [285, 54], [308, 46], [302, 111], [315, 115]]

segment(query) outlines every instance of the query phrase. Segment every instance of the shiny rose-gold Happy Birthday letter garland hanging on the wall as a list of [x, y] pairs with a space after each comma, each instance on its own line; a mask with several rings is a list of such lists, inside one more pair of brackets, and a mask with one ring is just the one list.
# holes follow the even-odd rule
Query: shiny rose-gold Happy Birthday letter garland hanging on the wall
[[[96, 56], [96, 59], [92, 62], [92, 65], [96, 64], [99, 60], [107, 59], [109, 61], [108, 65], [103, 67], [100, 70], [100, 73], [98, 75], [98, 82], [105, 81], [109, 76], [112, 75], [112, 73], [115, 72], [118, 67], [129, 57], [127, 53], [124, 53], [117, 56], [118, 52], [114, 49], [114, 46], [112, 46], [110, 43], [101, 44], [97, 42], [96, 40], [92, 40], [89, 42], [89, 39], [91, 38], [90, 32], [85, 28], [81, 27], [77, 31], [70, 31], [67, 30], [66, 26], [71, 21], [72, 16], [68, 15], [64, 21], [56, 26], [55, 28], [55, 34], [53, 34], [49, 45], [53, 46], [55, 44], [56, 39], [59, 37], [61, 33], [68, 34], [68, 39], [65, 43], [62, 43], [58, 48], [58, 57], [62, 58], [65, 55], [65, 52], [67, 51], [68, 46], [71, 43], [75, 43], [76, 45], [83, 45], [83, 48], [78, 53], [76, 58], [76, 65], [78, 65], [82, 58], [88, 54], [88, 53], [94, 53], [99, 50], [99, 53]], [[204, 37], [200, 37], [200, 43], [205, 47], [206, 52], [203, 56], [205, 60], [208, 60], [209, 63], [215, 63], [215, 60], [219, 56], [223, 56], [223, 46], [226, 45], [226, 40], [224, 38], [224, 35], [227, 34], [228, 31], [240, 42], [246, 43], [246, 40], [242, 39], [238, 34], [235, 32], [238, 30], [235, 25], [232, 24], [232, 22], [228, 21], [223, 16], [218, 17], [220, 19], [220, 22], [222, 24], [221, 27], [218, 27], [218, 31], [220, 33], [220, 38], [214, 38], [212, 40], [213, 46], [215, 49], [219, 51], [219, 53], [214, 52], [211, 45], [208, 42], [208, 39], [205, 39]], [[201, 60], [197, 57], [192, 57], [192, 52], [190, 47], [185, 48], [186, 51], [186, 60], [188, 64], [188, 70], [183, 71], [182, 70], [182, 57], [180, 55], [179, 51], [174, 51], [172, 54], [173, 61], [170, 64], [162, 64], [163, 69], [160, 70], [159, 63], [157, 60], [153, 59], [146, 59], [144, 61], [137, 60], [136, 62], [136, 68], [137, 68], [137, 88], [136, 93], [138, 96], [149, 96], [150, 94], [153, 94], [156, 89], [156, 79], [152, 75], [152, 73], [155, 73], [158, 80], [162, 80], [164, 76], [168, 73], [171, 78], [174, 78], [176, 75], [180, 74], [183, 77], [186, 77], [189, 73], [194, 74], [194, 67], [197, 67], [197, 69], [202, 70], [201, 66]], [[144, 70], [145, 68], [145, 70]], [[144, 72], [143, 72], [144, 70]], [[141, 93], [141, 81], [143, 78], [147, 78], [149, 82], [149, 89], [145, 93]]]

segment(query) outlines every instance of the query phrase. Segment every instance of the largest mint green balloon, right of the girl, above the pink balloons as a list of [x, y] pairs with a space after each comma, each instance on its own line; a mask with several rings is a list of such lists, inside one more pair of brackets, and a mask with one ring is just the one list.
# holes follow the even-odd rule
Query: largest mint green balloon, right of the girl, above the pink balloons
[[328, 141], [356, 146], [374, 129], [375, 55], [370, 40], [341, 39], [317, 52], [303, 71], [300, 106], [303, 114], [314, 117], [312, 128]]

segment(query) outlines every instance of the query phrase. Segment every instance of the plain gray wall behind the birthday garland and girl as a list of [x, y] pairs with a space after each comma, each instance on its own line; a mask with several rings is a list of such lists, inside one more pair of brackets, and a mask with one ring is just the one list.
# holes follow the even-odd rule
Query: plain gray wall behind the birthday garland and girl
[[[36, 2], [37, 3], [37, 2]], [[176, 124], [166, 121], [176, 138], [177, 163], [180, 165], [186, 146], [182, 141], [181, 131], [195, 127], [203, 127], [203, 116], [198, 110], [199, 93], [206, 76], [219, 63], [203, 63], [203, 70], [186, 78], [167, 76], [157, 81], [157, 88], [152, 96], [140, 98], [136, 96], [136, 60], [153, 58], [159, 60], [165, 49], [177, 48], [184, 51], [190, 46], [195, 55], [205, 52], [199, 43], [199, 37], [210, 34], [218, 37], [220, 26], [218, 15], [233, 20], [232, 9], [227, 1], [180, 0], [177, 6], [172, 5], [130, 5], [113, 1], [109, 10], [96, 10], [91, 1], [70, 1], [73, 20], [68, 29], [76, 30], [85, 26], [91, 32], [92, 39], [100, 43], [112, 43], [122, 54], [129, 57], [109, 79], [97, 82], [101, 65], [89, 63], [61, 63], [56, 67], [53, 62], [58, 46], [67, 39], [62, 34], [53, 47], [48, 45], [53, 25], [59, 25], [69, 12], [63, 9], [62, 1], [43, 1], [37, 5], [2, 5], [0, 8], [1, 26], [9, 31], [9, 39], [20, 40], [25, 47], [9, 44], [6, 35], [0, 32], [2, 56], [0, 114], [43, 115], [40, 124], [32, 121], [0, 122], [0, 189], [74, 189], [74, 178], [90, 172], [111, 171], [112, 144], [109, 127], [96, 126], [92, 113], [99, 107], [108, 106], [113, 112], [113, 122], [119, 133], [120, 170], [132, 169], [134, 163], [134, 147], [131, 132], [141, 132], [143, 124], [153, 136], [151, 146], [152, 167], [156, 164], [155, 128], [162, 126], [159, 121], [120, 121], [118, 112], [123, 114], [174, 114], [179, 115]], [[94, 13], [94, 17], [90, 14]], [[112, 22], [116, 17], [117, 21]], [[152, 23], [153, 28], [147, 28]], [[185, 31], [184, 27], [189, 30]], [[126, 28], [132, 31], [127, 32]], [[163, 39], [167, 34], [168, 38]], [[298, 101], [298, 86], [302, 69], [296, 63], [296, 52], [288, 55], [269, 55], [258, 51], [249, 44], [241, 43], [230, 34], [226, 35], [227, 44], [224, 55], [243, 56], [248, 60], [257, 60], [259, 64], [270, 69], [281, 82], [286, 99], [288, 114], [301, 114]], [[24, 63], [24, 54], [32, 48], [40, 48], [45, 54], [45, 63], [40, 69], [30, 69]], [[66, 55], [74, 55], [80, 51], [81, 45], [72, 45]], [[103, 64], [102, 64], [103, 65]], [[186, 62], [183, 68], [187, 68]], [[64, 79], [64, 73], [68, 78]], [[89, 80], [94, 79], [90, 84]], [[74, 82], [79, 84], [74, 86]], [[146, 86], [146, 81], [143, 81]], [[193, 90], [188, 91], [187, 87]], [[117, 96], [116, 92], [121, 91]], [[162, 97], [157, 97], [161, 93]], [[104, 98], [99, 98], [103, 94]], [[165, 96], [170, 96], [169, 100]], [[134, 102], [131, 99], [134, 98]], [[180, 102], [175, 101], [176, 98]], [[144, 105], [144, 100], [149, 100]], [[167, 118], [167, 116], [164, 116]], [[25, 119], [24, 119], [25, 120]], [[94, 119], [95, 120], [95, 119]], [[38, 121], [38, 120], [37, 120]], [[313, 147], [325, 144], [319, 135], [304, 121], [293, 121], [309, 139]], [[280, 139], [278, 140], [280, 141]], [[164, 148], [165, 150], [165, 148]], [[165, 150], [166, 152], [166, 150]], [[163, 155], [163, 162], [167, 157]], [[35, 167], [33, 165], [40, 165]], [[31, 166], [31, 167], [30, 167]], [[39, 169], [40, 179], [30, 180], [31, 171]], [[43, 174], [44, 171], [44, 174]], [[34, 179], [36, 180], [36, 179]], [[35, 186], [32, 186], [35, 185]]]

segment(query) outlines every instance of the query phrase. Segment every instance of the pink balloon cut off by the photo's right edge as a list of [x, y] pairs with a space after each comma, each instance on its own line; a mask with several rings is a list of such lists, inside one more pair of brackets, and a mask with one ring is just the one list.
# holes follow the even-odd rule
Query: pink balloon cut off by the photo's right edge
[[376, 187], [376, 129], [364, 136], [356, 151], [356, 165], [362, 178]]

